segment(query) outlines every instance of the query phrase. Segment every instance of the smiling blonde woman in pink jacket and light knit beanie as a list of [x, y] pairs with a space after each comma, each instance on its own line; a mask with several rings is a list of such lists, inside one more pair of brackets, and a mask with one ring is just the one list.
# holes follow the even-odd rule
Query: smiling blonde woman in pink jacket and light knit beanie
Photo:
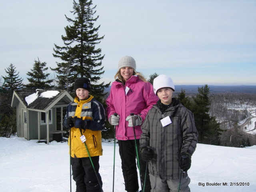
[[[140, 128], [148, 111], [158, 101], [150, 82], [136, 72], [136, 62], [131, 56], [124, 56], [118, 62], [118, 72], [106, 99], [110, 124], [116, 126], [119, 154], [122, 160], [125, 190], [137, 192], [138, 173], [136, 167], [136, 146], [139, 148]], [[114, 114], [117, 115], [114, 115]], [[133, 113], [134, 116], [130, 114]], [[136, 140], [134, 140], [134, 130]], [[139, 155], [140, 174], [144, 183], [146, 162]], [[146, 179], [146, 192], [150, 192], [150, 180]]]

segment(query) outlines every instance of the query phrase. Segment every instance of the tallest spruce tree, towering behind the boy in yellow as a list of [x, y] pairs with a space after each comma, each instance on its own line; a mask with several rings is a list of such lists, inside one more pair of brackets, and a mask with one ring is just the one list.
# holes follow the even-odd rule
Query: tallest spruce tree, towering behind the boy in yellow
[[[74, 19], [67, 17], [70, 22], [65, 27], [66, 36], [62, 35], [64, 46], [57, 46], [53, 56], [60, 58], [62, 62], [56, 62], [57, 67], [52, 68], [57, 73], [58, 84], [60, 88], [68, 90], [74, 94], [72, 84], [78, 77], [87, 77], [92, 84], [91, 94], [98, 100], [104, 97], [104, 90], [110, 85], [97, 84], [104, 74], [101, 55], [101, 48], [96, 45], [104, 38], [98, 35], [100, 26], [94, 27], [94, 22], [99, 16], [94, 17], [96, 6], [92, 6], [92, 0], [73, 1]], [[69, 88], [68, 88], [69, 87]]]

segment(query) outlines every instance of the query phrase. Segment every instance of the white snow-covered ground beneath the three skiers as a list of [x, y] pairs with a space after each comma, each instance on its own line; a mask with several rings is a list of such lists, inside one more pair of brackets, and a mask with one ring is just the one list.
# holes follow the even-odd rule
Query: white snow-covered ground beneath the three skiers
[[[112, 192], [113, 147], [113, 142], [104, 142], [103, 156], [100, 156], [104, 192]], [[255, 192], [255, 160], [256, 146], [231, 148], [198, 144], [188, 171], [190, 189], [192, 192]], [[114, 191], [124, 192], [118, 144], [115, 162]], [[1, 137], [0, 173], [1, 192], [69, 192], [68, 145]], [[72, 192], [75, 192], [73, 180]]]

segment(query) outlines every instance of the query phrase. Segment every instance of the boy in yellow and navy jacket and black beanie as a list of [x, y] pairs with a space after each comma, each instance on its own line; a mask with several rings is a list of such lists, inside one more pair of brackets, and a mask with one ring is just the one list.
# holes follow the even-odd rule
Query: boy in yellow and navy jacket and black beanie
[[106, 122], [105, 110], [102, 104], [89, 94], [91, 85], [88, 78], [78, 78], [74, 83], [74, 90], [76, 97], [67, 106], [64, 127], [70, 129], [68, 142], [71, 144], [71, 164], [76, 192], [101, 192], [99, 156], [102, 155], [101, 130]]

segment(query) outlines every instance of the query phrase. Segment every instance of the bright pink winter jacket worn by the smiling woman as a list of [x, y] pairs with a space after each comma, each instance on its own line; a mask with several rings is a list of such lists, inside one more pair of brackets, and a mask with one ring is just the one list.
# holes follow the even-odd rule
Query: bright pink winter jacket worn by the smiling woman
[[[127, 93], [126, 87], [130, 88]], [[114, 113], [120, 116], [119, 125], [116, 126], [116, 138], [118, 140], [133, 140], [133, 128], [128, 127], [126, 117], [130, 113], [141, 114], [143, 122], [148, 111], [157, 101], [158, 97], [154, 94], [152, 84], [140, 80], [138, 76], [132, 76], [125, 85], [114, 81], [111, 85], [110, 95], [106, 99], [108, 106], [106, 112], [108, 118]], [[135, 126], [136, 139], [140, 138], [141, 133], [140, 126]]]

